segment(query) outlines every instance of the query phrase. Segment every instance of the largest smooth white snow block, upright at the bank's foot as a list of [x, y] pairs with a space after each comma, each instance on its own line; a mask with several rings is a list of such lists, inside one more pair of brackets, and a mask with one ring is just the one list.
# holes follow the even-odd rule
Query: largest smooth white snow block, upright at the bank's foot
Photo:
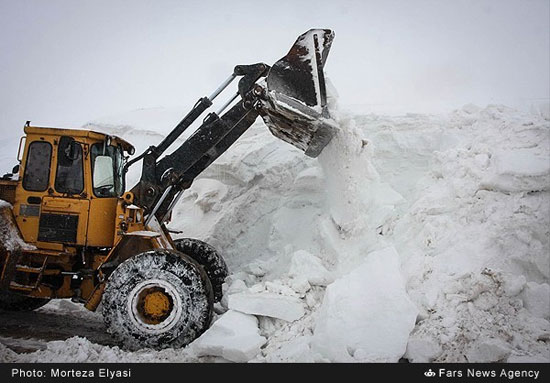
[[333, 362], [397, 362], [417, 314], [395, 249], [374, 251], [327, 287], [311, 348]]

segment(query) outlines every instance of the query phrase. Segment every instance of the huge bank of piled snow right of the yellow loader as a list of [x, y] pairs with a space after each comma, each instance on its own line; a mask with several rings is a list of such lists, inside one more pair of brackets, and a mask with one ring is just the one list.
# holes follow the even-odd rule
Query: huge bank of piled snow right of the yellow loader
[[[268, 341], [256, 359], [396, 361], [408, 343], [405, 357], [411, 361], [548, 360], [548, 122], [502, 106], [468, 105], [444, 117], [344, 115], [340, 123], [346, 134], [317, 162], [295, 157], [292, 149], [272, 149], [271, 160], [286, 166], [284, 177], [277, 172], [278, 184], [270, 172], [281, 169], [277, 162], [267, 169], [248, 162], [248, 169], [238, 172], [254, 181], [226, 184], [226, 197], [218, 202], [217, 211], [231, 217], [201, 212], [196, 218], [214, 223], [210, 230], [179, 226], [228, 254], [235, 272], [230, 282], [240, 281], [240, 291], [265, 289], [305, 301], [306, 314], [293, 323], [260, 318]], [[262, 131], [254, 133], [271, 144]], [[228, 166], [224, 157], [217, 166]], [[189, 211], [193, 202], [189, 198], [180, 209]], [[261, 251], [220, 235], [217, 225], [227, 227], [225, 219], [246, 244], [252, 233]], [[379, 318], [370, 317], [364, 303], [391, 289], [357, 288], [353, 273], [390, 245], [399, 255], [391, 275], [405, 281], [402, 290], [395, 281], [391, 286], [402, 300], [378, 310]], [[296, 270], [296, 254], [315, 259], [312, 264], [326, 270], [321, 274], [327, 279], [314, 285], [309, 267]], [[390, 267], [391, 257], [384, 265]], [[378, 284], [386, 286], [383, 282], [388, 281]], [[337, 288], [348, 283], [356, 288]], [[405, 291], [419, 310], [417, 318]], [[353, 303], [337, 314], [335, 302], [346, 299]], [[332, 320], [337, 315], [342, 323]], [[374, 328], [394, 318], [406, 320], [386, 338], [388, 347], [370, 353], [372, 333], [353, 331], [365, 318]], [[338, 334], [337, 355], [315, 341], [322, 338], [316, 332], [331, 323], [337, 324], [325, 333]], [[347, 333], [349, 338], [342, 335]]]

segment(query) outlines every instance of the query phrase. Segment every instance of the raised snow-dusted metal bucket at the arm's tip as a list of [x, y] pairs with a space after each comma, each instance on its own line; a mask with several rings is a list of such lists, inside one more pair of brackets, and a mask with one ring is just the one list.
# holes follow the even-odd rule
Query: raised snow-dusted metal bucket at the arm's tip
[[288, 54], [267, 75], [262, 118], [277, 138], [317, 157], [334, 136], [327, 109], [323, 68], [334, 33], [311, 29], [298, 37]]

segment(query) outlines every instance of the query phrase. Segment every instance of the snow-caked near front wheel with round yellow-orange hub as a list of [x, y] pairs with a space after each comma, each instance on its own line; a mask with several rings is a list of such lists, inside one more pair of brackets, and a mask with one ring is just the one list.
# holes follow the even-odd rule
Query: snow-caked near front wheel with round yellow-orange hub
[[130, 350], [182, 347], [212, 319], [212, 285], [191, 258], [151, 250], [121, 263], [103, 295], [107, 331]]

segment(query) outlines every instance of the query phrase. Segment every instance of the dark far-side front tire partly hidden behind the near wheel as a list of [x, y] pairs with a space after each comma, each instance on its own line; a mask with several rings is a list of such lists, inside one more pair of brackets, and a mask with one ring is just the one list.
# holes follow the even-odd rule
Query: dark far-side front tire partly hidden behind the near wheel
[[210, 278], [214, 290], [214, 301], [222, 299], [222, 285], [229, 274], [223, 257], [206, 242], [194, 238], [180, 238], [174, 241], [176, 249], [197, 261]]

